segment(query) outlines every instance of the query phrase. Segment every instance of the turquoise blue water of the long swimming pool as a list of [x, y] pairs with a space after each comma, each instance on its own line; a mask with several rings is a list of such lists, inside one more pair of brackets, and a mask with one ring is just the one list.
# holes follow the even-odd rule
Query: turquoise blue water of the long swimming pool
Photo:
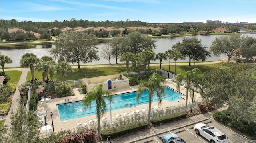
[[[166, 95], [164, 96], [163, 100], [168, 100], [169, 102], [179, 101], [180, 98], [178, 97], [183, 96], [183, 94], [180, 94], [167, 86], [164, 86], [164, 90]], [[129, 92], [124, 94], [114, 95], [114, 100], [113, 102], [111, 102], [112, 111], [123, 109], [123, 108], [130, 108], [130, 103], [132, 104], [135, 103], [136, 106], [142, 105], [142, 104], [148, 104], [147, 90], [145, 90], [142, 93], [142, 95], [140, 95], [139, 103], [136, 102], [136, 94], [137, 92]], [[157, 102], [157, 101], [158, 100], [155, 95], [153, 97], [152, 102]], [[108, 100], [106, 100], [106, 103], [107, 103], [108, 112], [109, 112], [110, 103]], [[129, 105], [125, 106], [125, 104], [127, 103]], [[96, 109], [95, 101], [92, 101], [91, 110], [89, 108], [84, 110], [82, 106], [82, 101], [58, 105], [60, 121], [95, 115], [96, 114], [95, 109]]]

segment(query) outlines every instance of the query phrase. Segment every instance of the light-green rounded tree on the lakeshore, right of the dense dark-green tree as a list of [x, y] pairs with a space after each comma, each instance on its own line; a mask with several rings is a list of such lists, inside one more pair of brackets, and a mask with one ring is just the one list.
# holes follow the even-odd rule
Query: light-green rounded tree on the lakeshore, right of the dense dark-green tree
[[217, 37], [212, 41], [210, 46], [210, 51], [215, 56], [224, 54], [228, 56], [228, 62], [234, 56], [234, 52], [240, 48], [241, 37], [239, 34], [236, 35], [226, 35], [222, 37]]

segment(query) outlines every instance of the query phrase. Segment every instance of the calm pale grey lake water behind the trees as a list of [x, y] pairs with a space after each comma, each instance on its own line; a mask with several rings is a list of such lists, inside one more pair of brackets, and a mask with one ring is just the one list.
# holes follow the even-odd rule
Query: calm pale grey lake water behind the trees
[[[248, 35], [250, 37], [256, 38], [256, 34], [243, 34]], [[196, 36], [199, 40], [202, 41], [202, 45], [208, 47], [207, 50], [210, 50], [210, 45], [212, 44], [212, 41], [215, 40], [216, 37], [221, 37], [222, 35], [198, 35]], [[188, 36], [192, 37], [192, 36]], [[156, 38], [156, 49], [154, 52], [157, 54], [159, 52], [165, 52], [168, 49], [172, 48], [172, 45], [176, 44], [178, 41], [182, 41], [184, 37], [173, 37], [173, 38]], [[20, 47], [14, 47], [12, 49], [1, 49], [1, 53], [4, 55], [8, 55], [10, 58], [12, 58], [12, 64], [6, 64], [5, 67], [14, 67], [14, 66], [20, 66], [20, 60], [21, 56], [25, 53], [34, 53], [38, 58], [41, 58], [42, 56], [50, 55], [50, 50], [54, 48], [55, 45], [32, 45], [32, 46], [24, 46], [22, 48]], [[104, 43], [98, 44], [96, 47], [98, 47], [98, 55], [101, 55], [102, 48], [104, 47]], [[219, 57], [213, 56], [209, 57], [208, 60], [218, 60]], [[173, 60], [171, 60], [173, 62]], [[188, 61], [186, 60], [178, 60], [178, 61]], [[122, 63], [118, 61], [119, 63]], [[160, 62], [152, 61], [154, 63]], [[168, 60], [162, 61], [162, 62], [168, 62]], [[115, 59], [111, 60], [111, 63], [116, 63]], [[83, 63], [80, 63], [83, 64]], [[87, 63], [91, 64], [91, 63]], [[108, 61], [106, 59], [103, 59], [100, 57], [99, 61], [93, 61], [92, 64], [108, 64]], [[77, 65], [77, 64], [75, 64]]]

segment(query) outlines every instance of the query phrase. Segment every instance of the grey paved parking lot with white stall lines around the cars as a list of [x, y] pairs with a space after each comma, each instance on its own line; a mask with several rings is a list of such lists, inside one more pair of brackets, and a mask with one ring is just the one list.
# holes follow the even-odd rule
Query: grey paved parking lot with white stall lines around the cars
[[[228, 137], [228, 143], [255, 143], [254, 141], [250, 141], [245, 137], [242, 137], [238, 133], [228, 129], [227, 127], [212, 119], [207, 119], [205, 121], [201, 121], [200, 123], [205, 123], [218, 128]], [[209, 143], [209, 141], [204, 139], [204, 137], [196, 135], [194, 131], [194, 125], [195, 124], [187, 125], [184, 127], [166, 131], [165, 133], [156, 133], [156, 135], [152, 135], [151, 137], [146, 137], [132, 143], [162, 143], [162, 136], [168, 133], [176, 133], [176, 135], [184, 139], [187, 143]]]

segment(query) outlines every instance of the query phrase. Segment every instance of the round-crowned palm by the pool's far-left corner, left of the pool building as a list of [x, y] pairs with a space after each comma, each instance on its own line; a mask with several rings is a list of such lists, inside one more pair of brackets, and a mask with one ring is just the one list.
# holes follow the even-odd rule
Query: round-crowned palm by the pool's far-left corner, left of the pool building
[[64, 86], [64, 90], [66, 90], [66, 86], [65, 86], [65, 75], [68, 72], [72, 72], [71, 66], [68, 63], [65, 62], [60, 62], [56, 65], [56, 71], [57, 73], [60, 73], [62, 76], [62, 80], [63, 80], [63, 86]]

